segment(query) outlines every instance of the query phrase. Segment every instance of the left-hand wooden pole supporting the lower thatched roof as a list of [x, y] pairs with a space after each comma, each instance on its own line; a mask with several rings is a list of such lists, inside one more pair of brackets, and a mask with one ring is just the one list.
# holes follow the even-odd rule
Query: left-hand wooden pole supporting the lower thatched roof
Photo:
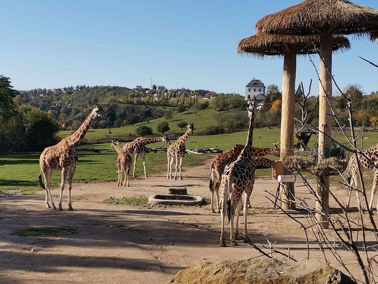
[[[296, 48], [296, 47], [293, 47]], [[296, 53], [285, 53], [282, 74], [282, 112], [281, 112], [281, 159], [290, 154], [294, 148], [294, 106], [295, 106], [295, 76], [297, 69]], [[284, 172], [285, 175], [288, 172]], [[294, 183], [283, 183], [280, 192], [281, 208], [295, 209]]]

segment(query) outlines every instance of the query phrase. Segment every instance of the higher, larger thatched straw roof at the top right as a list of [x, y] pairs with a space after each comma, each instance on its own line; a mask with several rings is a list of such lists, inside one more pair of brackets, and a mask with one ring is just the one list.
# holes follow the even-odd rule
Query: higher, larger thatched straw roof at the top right
[[306, 0], [263, 17], [256, 23], [256, 29], [300, 36], [365, 34], [378, 31], [378, 11], [346, 0]]

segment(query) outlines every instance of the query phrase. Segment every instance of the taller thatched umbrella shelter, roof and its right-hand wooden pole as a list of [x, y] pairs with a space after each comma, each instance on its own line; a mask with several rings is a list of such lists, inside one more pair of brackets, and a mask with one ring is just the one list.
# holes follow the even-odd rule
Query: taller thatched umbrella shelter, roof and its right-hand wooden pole
[[[282, 36], [320, 37], [319, 68], [319, 161], [327, 158], [331, 144], [332, 117], [328, 100], [332, 97], [332, 41], [334, 34], [363, 36], [378, 31], [378, 11], [356, 5], [347, 0], [306, 0], [280, 12], [263, 17], [256, 23], [259, 32]], [[282, 139], [281, 139], [282, 140]], [[318, 222], [328, 228], [328, 220], [321, 211], [328, 212], [329, 179], [319, 177], [316, 201]]]

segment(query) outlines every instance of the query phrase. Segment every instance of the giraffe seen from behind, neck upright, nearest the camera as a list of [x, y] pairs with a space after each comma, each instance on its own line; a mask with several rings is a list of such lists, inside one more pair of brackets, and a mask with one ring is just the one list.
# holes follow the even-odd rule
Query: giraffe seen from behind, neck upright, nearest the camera
[[253, 184], [255, 181], [255, 168], [252, 161], [252, 140], [253, 140], [253, 127], [254, 119], [257, 111], [261, 106], [256, 108], [256, 102], [253, 107], [249, 105], [249, 129], [248, 138], [242, 152], [239, 154], [236, 161], [232, 162], [225, 168], [225, 172], [222, 175], [220, 192], [220, 215], [222, 220], [222, 232], [220, 235], [220, 247], [226, 247], [225, 242], [225, 217], [228, 215], [228, 222], [231, 224], [231, 245], [236, 246], [234, 236], [234, 216], [240, 213], [240, 203], [242, 202], [242, 194], [244, 193], [244, 232], [243, 238], [246, 242], [249, 241], [247, 232], [247, 215], [248, 215], [248, 200], [253, 190]]

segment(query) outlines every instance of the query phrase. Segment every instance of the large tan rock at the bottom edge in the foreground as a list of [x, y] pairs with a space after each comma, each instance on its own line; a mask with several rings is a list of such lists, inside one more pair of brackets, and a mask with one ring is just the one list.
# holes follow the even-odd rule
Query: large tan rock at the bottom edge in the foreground
[[169, 283], [182, 284], [355, 284], [339, 270], [319, 262], [283, 263], [276, 259], [246, 259], [211, 264], [207, 261], [181, 270]]

